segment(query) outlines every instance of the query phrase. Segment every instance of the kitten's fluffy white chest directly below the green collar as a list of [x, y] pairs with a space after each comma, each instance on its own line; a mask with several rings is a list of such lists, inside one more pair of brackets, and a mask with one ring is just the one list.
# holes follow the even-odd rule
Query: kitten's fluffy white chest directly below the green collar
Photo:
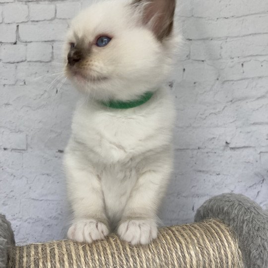
[[155, 94], [143, 106], [128, 110], [81, 105], [73, 118], [72, 137], [83, 144], [91, 161], [111, 164], [170, 144], [173, 102], [165, 91]]

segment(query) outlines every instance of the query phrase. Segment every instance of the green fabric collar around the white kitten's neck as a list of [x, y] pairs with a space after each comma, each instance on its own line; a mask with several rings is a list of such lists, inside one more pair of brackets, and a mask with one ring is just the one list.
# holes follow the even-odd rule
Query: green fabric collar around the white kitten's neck
[[136, 100], [132, 101], [119, 101], [119, 100], [109, 100], [106, 102], [101, 102], [104, 106], [108, 108], [113, 108], [113, 109], [131, 109], [138, 107], [145, 102], [149, 101], [153, 95], [153, 92], [146, 92], [142, 96], [140, 96]]

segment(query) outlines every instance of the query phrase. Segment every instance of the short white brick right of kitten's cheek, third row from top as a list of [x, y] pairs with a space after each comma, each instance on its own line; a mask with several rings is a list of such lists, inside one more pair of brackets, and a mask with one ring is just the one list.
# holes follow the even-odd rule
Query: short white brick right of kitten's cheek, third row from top
[[219, 60], [221, 58], [222, 41], [193, 41], [191, 45], [192, 60]]

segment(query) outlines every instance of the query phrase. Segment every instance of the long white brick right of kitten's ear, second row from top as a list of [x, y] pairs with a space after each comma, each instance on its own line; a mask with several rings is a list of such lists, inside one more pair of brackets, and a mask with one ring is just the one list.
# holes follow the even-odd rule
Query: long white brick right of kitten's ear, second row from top
[[268, 33], [267, 15], [218, 20], [187, 18], [184, 25], [184, 36], [188, 39], [215, 39], [256, 33]]

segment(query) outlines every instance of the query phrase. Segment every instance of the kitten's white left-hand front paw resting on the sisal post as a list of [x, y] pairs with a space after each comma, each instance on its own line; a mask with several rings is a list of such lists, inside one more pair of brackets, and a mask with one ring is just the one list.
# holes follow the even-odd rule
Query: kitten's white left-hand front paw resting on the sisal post
[[94, 219], [79, 220], [74, 222], [67, 232], [67, 237], [80, 243], [92, 243], [103, 240], [109, 234], [107, 226]]

